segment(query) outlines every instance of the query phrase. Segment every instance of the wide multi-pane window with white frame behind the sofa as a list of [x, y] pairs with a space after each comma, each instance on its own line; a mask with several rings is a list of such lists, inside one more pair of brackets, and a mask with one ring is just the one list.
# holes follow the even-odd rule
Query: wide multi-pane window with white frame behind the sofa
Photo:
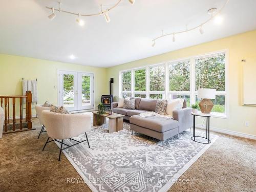
[[227, 52], [160, 63], [120, 72], [120, 96], [185, 98], [187, 105], [199, 103], [199, 88], [215, 88], [214, 116], [228, 117]]

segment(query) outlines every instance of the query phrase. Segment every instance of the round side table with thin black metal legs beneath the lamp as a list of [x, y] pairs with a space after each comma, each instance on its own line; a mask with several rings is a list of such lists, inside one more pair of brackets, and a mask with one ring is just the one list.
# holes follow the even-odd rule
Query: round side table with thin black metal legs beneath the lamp
[[[191, 115], [193, 115], [193, 137], [191, 137], [191, 139], [195, 142], [198, 143], [202, 143], [202, 144], [208, 144], [210, 143], [210, 116], [211, 114], [205, 114], [205, 113], [191, 113]], [[196, 136], [196, 116], [199, 117], [206, 117], [206, 137], [202, 137], [202, 136]], [[207, 139], [208, 142], [200, 142], [200, 141], [196, 141], [196, 138], [204, 138]]]

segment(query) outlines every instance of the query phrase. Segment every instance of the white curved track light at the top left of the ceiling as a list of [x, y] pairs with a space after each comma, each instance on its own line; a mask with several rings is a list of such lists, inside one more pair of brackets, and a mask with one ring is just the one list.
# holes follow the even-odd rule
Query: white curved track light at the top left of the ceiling
[[[81, 25], [81, 26], [84, 25], [83, 20], [81, 20], [81, 18], [80, 18], [81, 16], [87, 16], [87, 17], [88, 17], [88, 16], [103, 15], [104, 18], [106, 19], [106, 22], [109, 23], [109, 22], [110, 22], [109, 11], [112, 10], [112, 9], [114, 9], [115, 7], [117, 7], [117, 6], [121, 3], [121, 1], [123, 1], [123, 0], [116, 0], [116, 1], [117, 1], [116, 4], [114, 4], [112, 7], [108, 8], [108, 9], [106, 9], [105, 11], [102, 11], [102, 5], [101, 5], [101, 11], [98, 12], [98, 13], [93, 13], [93, 14], [80, 14], [80, 13], [74, 13], [74, 12], [71, 12], [71, 11], [62, 10], [62, 9], [61, 9], [61, 3], [60, 3], [60, 2], [58, 2], [58, 4], [59, 4], [59, 8], [58, 8], [58, 9], [55, 9], [55, 8], [53, 8], [53, 7], [48, 7], [48, 6], [46, 6], [46, 9], [51, 9], [51, 10], [52, 10], [52, 14], [48, 16], [49, 19], [51, 19], [51, 20], [56, 17], [56, 15], [55, 15], [55, 13], [54, 13], [54, 10], [55, 10], [55, 11], [59, 11], [60, 13], [63, 12], [63, 13], [68, 13], [68, 14], [72, 14], [72, 15], [78, 15], [78, 19], [76, 19], [76, 22], [78, 22], [78, 24]], [[132, 5], [133, 5], [134, 2], [135, 2], [135, 0], [128, 0], [128, 1], [129, 1]]]

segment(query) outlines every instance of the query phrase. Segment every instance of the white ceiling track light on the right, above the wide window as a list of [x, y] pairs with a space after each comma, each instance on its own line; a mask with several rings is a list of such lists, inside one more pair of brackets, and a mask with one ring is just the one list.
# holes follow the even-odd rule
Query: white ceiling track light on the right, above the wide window
[[[129, 1], [130, 1], [130, 0], [129, 0]], [[177, 32], [172, 32], [172, 33], [167, 33], [167, 34], [163, 34], [163, 32], [162, 32], [162, 35], [160, 35], [160, 36], [158, 36], [158, 37], [152, 39], [152, 41], [154, 42], [153, 45], [155, 45], [155, 41], [156, 41], [157, 39], [160, 39], [160, 38], [162, 38], [162, 37], [169, 36], [169, 35], [173, 35], [173, 41], [175, 42], [175, 40], [176, 40], [176, 39], [175, 39], [175, 35], [181, 34], [181, 33], [186, 33], [186, 32], [188, 32], [188, 31], [193, 31], [193, 30], [198, 29], [198, 28], [199, 28], [200, 34], [203, 34], [203, 33], [204, 33], [203, 28], [202, 28], [203, 25], [206, 24], [206, 23], [208, 23], [208, 22], [210, 22], [210, 20], [212, 20], [213, 18], [215, 19], [214, 22], [215, 22], [216, 24], [221, 24], [223, 19], [222, 19], [222, 17], [219, 16], [219, 14], [220, 14], [220, 12], [224, 9], [224, 7], [228, 4], [228, 2], [229, 2], [229, 0], [226, 0], [226, 3], [223, 5], [223, 7], [222, 7], [219, 11], [217, 10], [217, 8], [211, 8], [211, 9], [209, 9], [207, 12], [208, 12], [208, 14], [210, 15], [210, 18], [208, 18], [205, 22], [203, 22], [202, 24], [200, 24], [200, 25], [198, 25], [198, 26], [195, 26], [195, 27], [189, 29], [189, 28], [187, 27], [187, 25], [186, 25], [186, 29], [185, 29], [185, 30], [182, 30], [182, 31], [177, 31]], [[153, 45], [152, 45], [152, 47], [154, 47]]]

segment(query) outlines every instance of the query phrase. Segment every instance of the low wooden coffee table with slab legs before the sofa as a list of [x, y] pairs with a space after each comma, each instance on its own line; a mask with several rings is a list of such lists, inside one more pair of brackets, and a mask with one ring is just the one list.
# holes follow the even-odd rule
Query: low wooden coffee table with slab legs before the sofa
[[109, 118], [109, 133], [118, 132], [123, 129], [123, 117], [124, 115], [117, 113], [113, 113], [112, 115], [102, 114], [98, 121], [97, 112], [93, 112], [93, 126], [102, 125], [106, 123], [106, 118]]

